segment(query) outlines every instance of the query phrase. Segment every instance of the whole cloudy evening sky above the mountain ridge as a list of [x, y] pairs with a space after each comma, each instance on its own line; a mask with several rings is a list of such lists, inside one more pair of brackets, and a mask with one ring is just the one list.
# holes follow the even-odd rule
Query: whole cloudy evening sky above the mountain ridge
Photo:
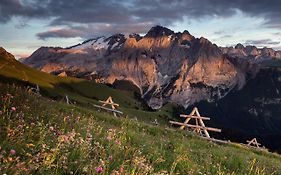
[[281, 0], [0, 0], [0, 46], [17, 58], [162, 25], [219, 46], [281, 50]]

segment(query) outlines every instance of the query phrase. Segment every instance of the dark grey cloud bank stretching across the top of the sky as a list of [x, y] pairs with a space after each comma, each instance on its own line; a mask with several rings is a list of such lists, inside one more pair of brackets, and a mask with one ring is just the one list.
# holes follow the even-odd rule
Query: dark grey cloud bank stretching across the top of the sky
[[[40, 38], [79, 34], [83, 37], [85, 34], [76, 31], [73, 25], [80, 25], [83, 30], [94, 28], [99, 31], [99, 28], [110, 24], [116, 30], [105, 27], [106, 32], [116, 33], [126, 27], [135, 29], [134, 25], [139, 24], [169, 26], [184, 18], [225, 18], [242, 11], [246, 15], [263, 18], [264, 27], [281, 29], [280, 8], [280, 0], [0, 0], [0, 22], [8, 22], [13, 17], [49, 19], [50, 26], [66, 26], [64, 31], [67, 32], [45, 31], [38, 34]], [[98, 27], [93, 27], [95, 25]], [[148, 26], [141, 29], [141, 32], [147, 31]]]

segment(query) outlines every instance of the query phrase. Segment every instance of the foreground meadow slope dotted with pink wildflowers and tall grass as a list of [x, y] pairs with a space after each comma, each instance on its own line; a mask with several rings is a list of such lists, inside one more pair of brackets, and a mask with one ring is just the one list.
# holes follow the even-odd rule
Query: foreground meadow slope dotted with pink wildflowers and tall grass
[[1, 173], [281, 174], [281, 157], [273, 153], [214, 144], [14, 86], [0, 84], [0, 98]]

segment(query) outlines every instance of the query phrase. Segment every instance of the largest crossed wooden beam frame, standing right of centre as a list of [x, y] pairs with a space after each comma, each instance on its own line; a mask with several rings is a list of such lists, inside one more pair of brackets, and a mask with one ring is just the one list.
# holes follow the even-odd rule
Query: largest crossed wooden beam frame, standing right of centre
[[[190, 128], [194, 132], [199, 133], [200, 135], [203, 135], [202, 132], [204, 133], [205, 137], [210, 138], [209, 132], [208, 131], [213, 131], [213, 132], [221, 132], [221, 129], [218, 128], [212, 128], [212, 127], [206, 127], [203, 120], [210, 120], [209, 117], [202, 117], [198, 111], [198, 108], [193, 108], [191, 113], [189, 115], [181, 114], [180, 117], [186, 118], [186, 120], [181, 123], [181, 122], [176, 122], [176, 121], [170, 121], [171, 124], [175, 125], [180, 125], [180, 129], [184, 128]], [[195, 125], [188, 124], [188, 122], [191, 119], [195, 119]]]

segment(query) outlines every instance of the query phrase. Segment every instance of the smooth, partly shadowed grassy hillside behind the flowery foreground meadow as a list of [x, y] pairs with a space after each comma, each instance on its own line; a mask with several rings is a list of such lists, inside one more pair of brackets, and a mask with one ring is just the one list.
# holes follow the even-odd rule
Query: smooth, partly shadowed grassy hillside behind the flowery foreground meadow
[[35, 87], [39, 85], [41, 92], [53, 99], [63, 99], [67, 95], [72, 102], [92, 108], [112, 96], [120, 104], [120, 110], [129, 117], [153, 121], [155, 118], [164, 123], [173, 111], [173, 105], [168, 104], [162, 111], [148, 112], [142, 107], [133, 92], [118, 91], [106, 85], [96, 84], [83, 79], [57, 77], [23, 65], [16, 60], [0, 55], [0, 81], [11, 83], [25, 82]]

